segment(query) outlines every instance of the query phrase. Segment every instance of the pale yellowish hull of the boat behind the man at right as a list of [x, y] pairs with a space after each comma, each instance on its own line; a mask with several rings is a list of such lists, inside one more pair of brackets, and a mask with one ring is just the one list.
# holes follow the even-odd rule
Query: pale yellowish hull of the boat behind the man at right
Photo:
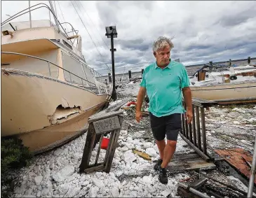
[[190, 87], [192, 97], [205, 100], [249, 99], [256, 97], [256, 82]]

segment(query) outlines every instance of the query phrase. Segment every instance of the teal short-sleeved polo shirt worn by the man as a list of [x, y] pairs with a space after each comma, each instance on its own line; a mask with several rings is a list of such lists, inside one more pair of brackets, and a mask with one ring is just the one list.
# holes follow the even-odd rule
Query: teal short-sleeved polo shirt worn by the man
[[156, 62], [144, 69], [141, 87], [149, 97], [149, 112], [156, 117], [184, 113], [182, 88], [189, 87], [189, 76], [183, 64], [170, 61], [161, 69]]

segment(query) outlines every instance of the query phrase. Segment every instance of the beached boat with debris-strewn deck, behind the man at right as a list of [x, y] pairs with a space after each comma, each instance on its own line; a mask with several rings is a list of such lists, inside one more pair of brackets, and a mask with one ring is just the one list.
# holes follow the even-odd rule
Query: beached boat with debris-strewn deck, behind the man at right
[[256, 101], [256, 67], [204, 65], [190, 77], [192, 97], [214, 101]]

